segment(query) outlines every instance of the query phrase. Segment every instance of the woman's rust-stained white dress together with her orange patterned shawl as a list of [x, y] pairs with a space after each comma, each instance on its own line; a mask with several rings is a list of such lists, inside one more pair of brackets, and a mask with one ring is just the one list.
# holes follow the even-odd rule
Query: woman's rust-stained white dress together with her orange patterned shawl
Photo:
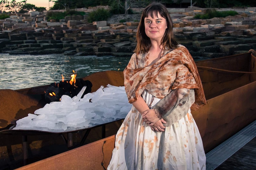
[[[153, 65], [148, 66], [147, 61], [148, 53], [133, 54], [124, 70], [130, 103], [141, 95], [150, 105], [154, 96], [154, 106], [176, 88], [195, 89], [191, 109], [206, 103], [195, 62], [186, 47], [179, 45], [172, 51], [163, 51]], [[205, 163], [202, 139], [190, 109], [184, 118], [165, 127], [164, 132], [155, 132], [132, 106], [116, 134], [108, 170], [198, 170], [206, 169]]]

